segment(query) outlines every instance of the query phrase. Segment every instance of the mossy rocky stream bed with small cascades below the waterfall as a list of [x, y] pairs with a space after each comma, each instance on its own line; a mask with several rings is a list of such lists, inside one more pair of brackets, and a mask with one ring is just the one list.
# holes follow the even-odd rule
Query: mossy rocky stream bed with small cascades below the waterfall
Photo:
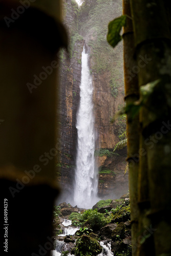
[[88, 210], [61, 203], [54, 207], [53, 228], [53, 256], [131, 256], [129, 194]]

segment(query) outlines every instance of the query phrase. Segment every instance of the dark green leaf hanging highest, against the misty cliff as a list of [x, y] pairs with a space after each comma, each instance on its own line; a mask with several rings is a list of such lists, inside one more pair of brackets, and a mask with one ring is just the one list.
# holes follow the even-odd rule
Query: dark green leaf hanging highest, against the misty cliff
[[115, 18], [114, 20], [112, 20], [112, 22], [109, 23], [107, 40], [112, 47], [115, 47], [118, 42], [121, 41], [122, 37], [120, 35], [120, 31], [122, 27], [125, 26], [125, 24], [125, 15], [122, 15], [119, 18]]

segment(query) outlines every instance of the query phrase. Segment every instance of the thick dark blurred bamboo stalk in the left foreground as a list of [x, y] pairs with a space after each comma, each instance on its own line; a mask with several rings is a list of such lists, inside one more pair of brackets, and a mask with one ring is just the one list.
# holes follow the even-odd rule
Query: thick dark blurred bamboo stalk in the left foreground
[[57, 51], [67, 45], [60, 1], [8, 0], [0, 7], [1, 254], [50, 255], [59, 193]]

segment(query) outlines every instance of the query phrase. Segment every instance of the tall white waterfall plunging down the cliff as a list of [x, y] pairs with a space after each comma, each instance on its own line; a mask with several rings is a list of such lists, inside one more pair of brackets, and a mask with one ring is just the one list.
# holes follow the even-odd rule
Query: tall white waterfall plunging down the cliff
[[98, 201], [96, 196], [98, 169], [94, 158], [93, 84], [85, 47], [83, 47], [81, 63], [80, 104], [76, 122], [78, 145], [74, 201], [78, 207], [91, 208]]

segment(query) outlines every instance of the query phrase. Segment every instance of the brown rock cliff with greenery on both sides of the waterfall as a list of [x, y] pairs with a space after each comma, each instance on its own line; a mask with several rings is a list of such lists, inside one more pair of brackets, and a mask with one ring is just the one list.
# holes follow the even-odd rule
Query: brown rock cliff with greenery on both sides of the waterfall
[[[72, 194], [76, 159], [76, 113], [79, 104], [81, 79], [81, 52], [84, 40], [89, 51], [90, 69], [94, 87], [94, 116], [96, 130], [96, 161], [99, 166], [99, 196], [111, 194], [120, 197], [127, 192], [128, 179], [124, 175], [126, 152], [113, 154], [119, 135], [125, 131], [120, 120], [110, 120], [123, 105], [122, 45], [112, 49], [106, 42], [108, 23], [121, 14], [119, 0], [92, 0], [78, 9], [74, 0], [64, 4], [64, 23], [70, 36], [69, 53], [62, 51], [61, 59], [61, 152], [58, 166], [60, 183], [65, 187], [66, 198]], [[65, 200], [65, 197], [62, 198]]]

